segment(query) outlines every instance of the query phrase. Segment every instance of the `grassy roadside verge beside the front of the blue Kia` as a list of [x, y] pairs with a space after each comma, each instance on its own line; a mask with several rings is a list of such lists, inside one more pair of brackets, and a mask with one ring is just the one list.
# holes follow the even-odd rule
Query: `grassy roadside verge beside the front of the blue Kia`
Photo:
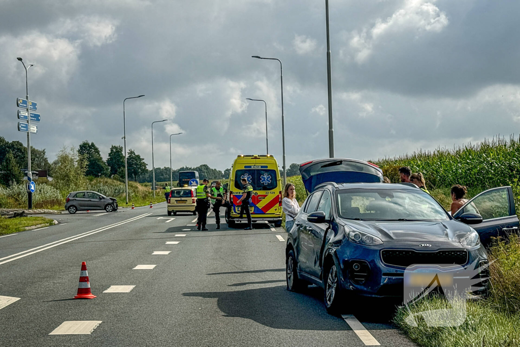
[[[411, 314], [437, 309], [459, 310], [436, 295], [400, 308], [395, 324], [422, 347], [513, 347], [520, 345], [520, 238], [495, 240], [488, 251], [490, 290], [487, 298], [466, 303], [466, 319], [460, 326], [428, 327], [421, 318], [418, 326], [406, 323]], [[420, 315], [419, 315], [420, 316]]]

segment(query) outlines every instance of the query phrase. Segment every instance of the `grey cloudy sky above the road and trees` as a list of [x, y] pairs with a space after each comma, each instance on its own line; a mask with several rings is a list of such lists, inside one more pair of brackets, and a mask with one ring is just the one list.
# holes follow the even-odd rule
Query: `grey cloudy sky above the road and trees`
[[[451, 147], [520, 128], [517, 0], [330, 0], [336, 157], [375, 159]], [[50, 160], [95, 142], [127, 146], [151, 168], [224, 170], [269, 148], [281, 165], [283, 62], [287, 164], [328, 157], [321, 0], [0, 0], [0, 136], [17, 131], [17, 97], [42, 122]]]

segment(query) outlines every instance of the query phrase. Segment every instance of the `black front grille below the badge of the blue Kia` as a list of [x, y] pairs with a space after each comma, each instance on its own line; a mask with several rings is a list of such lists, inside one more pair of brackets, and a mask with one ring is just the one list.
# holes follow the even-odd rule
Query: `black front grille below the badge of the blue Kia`
[[436, 252], [384, 249], [381, 251], [381, 259], [387, 265], [400, 267], [408, 267], [413, 264], [465, 265], [468, 254], [464, 249]]

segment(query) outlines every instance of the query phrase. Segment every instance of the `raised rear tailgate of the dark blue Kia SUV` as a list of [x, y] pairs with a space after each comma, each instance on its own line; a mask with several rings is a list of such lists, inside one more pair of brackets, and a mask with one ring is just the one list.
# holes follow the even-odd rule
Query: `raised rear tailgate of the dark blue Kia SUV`
[[383, 182], [383, 171], [367, 161], [328, 158], [309, 161], [300, 165], [303, 184], [307, 193], [325, 182], [376, 183]]

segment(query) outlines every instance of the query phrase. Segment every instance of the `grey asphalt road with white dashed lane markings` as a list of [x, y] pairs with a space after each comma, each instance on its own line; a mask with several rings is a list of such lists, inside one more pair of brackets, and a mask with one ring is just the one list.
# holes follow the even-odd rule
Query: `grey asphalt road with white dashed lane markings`
[[[414, 345], [385, 303], [356, 302], [344, 319], [326, 312], [317, 287], [288, 292], [281, 228], [215, 230], [210, 215], [210, 231], [198, 232], [194, 216], [168, 217], [164, 203], [51, 217], [60, 224], [0, 238], [2, 346]], [[82, 261], [96, 299], [72, 299]], [[135, 287], [103, 292], [111, 286]], [[81, 332], [55, 330], [69, 321], [97, 327], [49, 335]]]

